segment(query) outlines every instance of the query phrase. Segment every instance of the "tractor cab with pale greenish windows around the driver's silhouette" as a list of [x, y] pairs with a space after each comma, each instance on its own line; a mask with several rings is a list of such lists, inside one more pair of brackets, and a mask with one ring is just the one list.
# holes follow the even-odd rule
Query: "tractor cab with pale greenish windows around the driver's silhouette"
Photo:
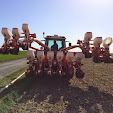
[[[62, 48], [66, 47], [66, 42], [65, 42], [65, 37], [64, 36], [46, 36], [45, 37], [45, 45], [48, 46], [52, 50], [52, 46], [54, 45], [54, 41], [58, 45], [58, 51]], [[54, 50], [52, 50], [54, 51]]]

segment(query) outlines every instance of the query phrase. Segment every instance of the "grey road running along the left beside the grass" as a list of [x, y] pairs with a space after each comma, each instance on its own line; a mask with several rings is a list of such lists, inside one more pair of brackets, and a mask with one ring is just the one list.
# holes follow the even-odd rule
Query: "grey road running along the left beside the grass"
[[14, 72], [15, 70], [24, 67], [27, 63], [26, 58], [12, 60], [5, 63], [0, 63], [0, 79], [9, 73]]

